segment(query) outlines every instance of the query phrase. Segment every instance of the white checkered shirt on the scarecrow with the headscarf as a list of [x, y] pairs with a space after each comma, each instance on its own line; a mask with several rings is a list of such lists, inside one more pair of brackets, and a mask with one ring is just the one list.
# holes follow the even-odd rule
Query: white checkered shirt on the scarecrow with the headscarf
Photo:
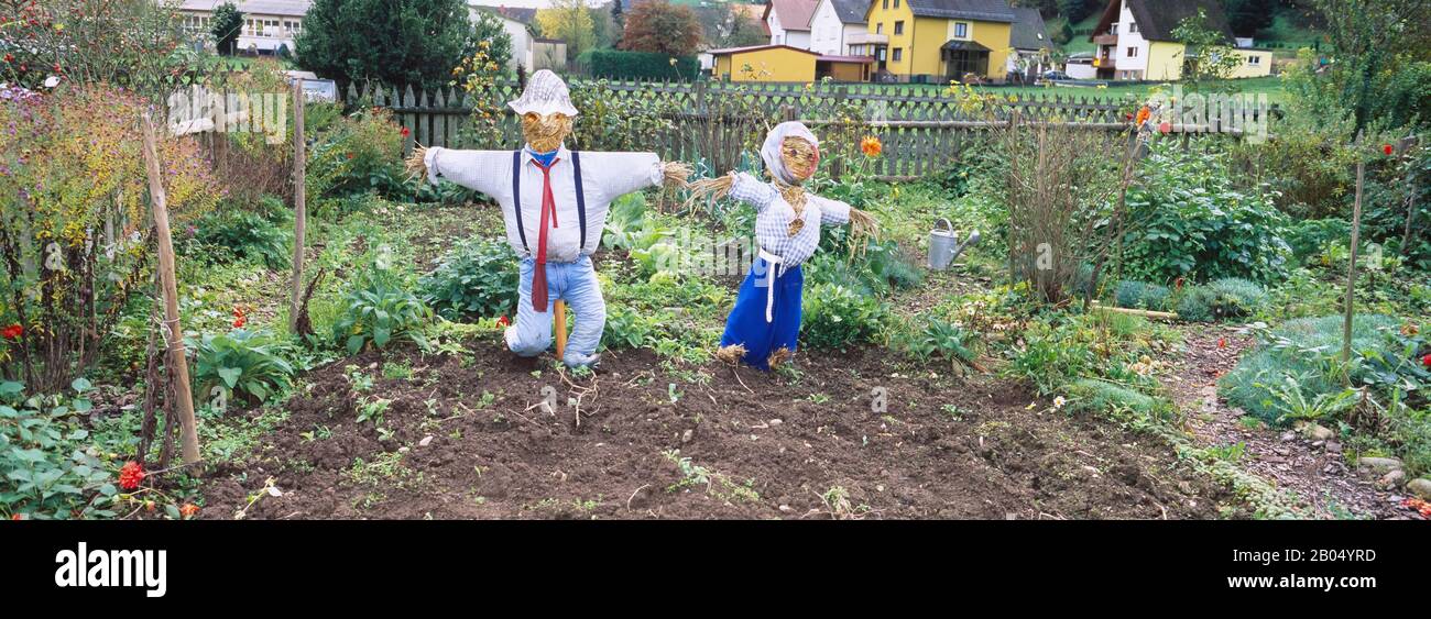
[[756, 207], [756, 242], [760, 249], [780, 256], [786, 269], [794, 269], [814, 254], [820, 246], [820, 226], [850, 222], [850, 204], [806, 193], [806, 207], [800, 219], [806, 226], [790, 236], [790, 222], [796, 210], [773, 183], [763, 183], [744, 172], [733, 173], [730, 197]]

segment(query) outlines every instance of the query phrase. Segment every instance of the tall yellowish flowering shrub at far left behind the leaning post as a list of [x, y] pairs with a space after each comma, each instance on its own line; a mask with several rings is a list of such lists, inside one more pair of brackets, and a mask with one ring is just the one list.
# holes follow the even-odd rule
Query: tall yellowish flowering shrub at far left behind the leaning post
[[[56, 393], [89, 367], [137, 290], [153, 246], [137, 127], [147, 103], [109, 87], [36, 94], [0, 87], [0, 325], [21, 325], [0, 376]], [[223, 187], [189, 139], [160, 139], [175, 230]]]

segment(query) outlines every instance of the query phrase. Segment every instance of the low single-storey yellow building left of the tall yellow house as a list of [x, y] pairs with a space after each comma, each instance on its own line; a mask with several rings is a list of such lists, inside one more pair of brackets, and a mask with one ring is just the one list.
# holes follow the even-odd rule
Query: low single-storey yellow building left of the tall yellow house
[[866, 56], [826, 56], [790, 46], [753, 46], [708, 50], [714, 60], [711, 76], [730, 81], [800, 81], [821, 77], [836, 81], [869, 81], [871, 59]]

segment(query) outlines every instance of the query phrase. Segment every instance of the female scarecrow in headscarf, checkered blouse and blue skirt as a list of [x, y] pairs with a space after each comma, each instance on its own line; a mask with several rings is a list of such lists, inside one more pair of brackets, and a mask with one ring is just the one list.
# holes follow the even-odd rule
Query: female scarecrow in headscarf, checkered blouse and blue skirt
[[820, 226], [850, 223], [851, 243], [877, 232], [874, 219], [843, 202], [811, 196], [801, 183], [820, 163], [820, 140], [800, 123], [780, 123], [760, 147], [770, 182], [731, 172], [693, 184], [691, 200], [734, 197], [756, 207], [760, 254], [726, 319], [718, 359], [770, 370], [794, 355], [800, 336], [804, 263], [820, 244]]

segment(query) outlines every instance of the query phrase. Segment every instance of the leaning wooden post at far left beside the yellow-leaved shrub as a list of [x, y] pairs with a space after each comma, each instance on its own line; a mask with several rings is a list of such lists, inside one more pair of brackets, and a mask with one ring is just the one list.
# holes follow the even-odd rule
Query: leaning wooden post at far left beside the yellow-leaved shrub
[[149, 169], [149, 200], [155, 212], [155, 236], [159, 242], [159, 283], [165, 297], [165, 326], [169, 329], [169, 376], [183, 427], [183, 462], [199, 462], [199, 427], [193, 417], [193, 392], [189, 387], [189, 360], [185, 359], [183, 329], [179, 326], [179, 283], [175, 280], [175, 246], [169, 232], [169, 206], [155, 146], [155, 122], [145, 112], [145, 164]]

